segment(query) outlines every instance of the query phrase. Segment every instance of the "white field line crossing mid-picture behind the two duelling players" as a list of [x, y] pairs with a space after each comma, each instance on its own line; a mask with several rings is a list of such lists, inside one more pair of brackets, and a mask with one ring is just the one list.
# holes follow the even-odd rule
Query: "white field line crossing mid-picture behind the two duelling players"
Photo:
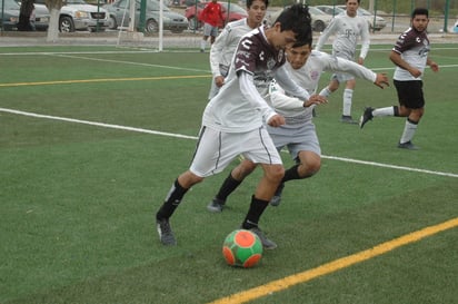
[[[9, 114], [16, 114], [16, 115], [22, 115], [22, 116], [28, 116], [28, 117], [34, 117], [34, 118], [43, 118], [43, 119], [60, 120], [60, 121], [66, 121], [66, 122], [90, 125], [90, 126], [102, 127], [102, 128], [111, 128], [111, 129], [119, 129], [119, 130], [127, 130], [127, 131], [145, 133], [145, 134], [160, 135], [160, 136], [167, 136], [167, 137], [177, 137], [177, 138], [185, 138], [185, 139], [193, 139], [193, 140], [198, 139], [198, 137], [196, 137], [196, 136], [188, 136], [188, 135], [172, 134], [172, 133], [163, 133], [163, 131], [155, 131], [155, 130], [149, 130], [149, 129], [143, 129], [143, 128], [135, 128], [135, 127], [112, 125], [112, 124], [103, 124], [103, 122], [81, 120], [81, 119], [74, 119], [74, 118], [58, 117], [58, 116], [42, 115], [42, 114], [36, 114], [36, 112], [27, 112], [27, 111], [20, 111], [20, 110], [14, 110], [14, 109], [0, 108], [0, 111], [9, 112]], [[346, 157], [338, 157], [338, 156], [322, 155], [321, 157], [326, 158], [326, 159], [340, 160], [340, 161], [359, 164], [359, 165], [368, 165], [368, 166], [391, 168], [391, 169], [407, 170], [407, 171], [417, 171], [417, 173], [447, 176], [447, 177], [458, 177], [458, 174], [452, 174], [452, 173], [442, 173], [442, 171], [435, 171], [435, 170], [418, 169], [418, 168], [396, 166], [396, 165], [381, 164], [381, 163], [375, 163], [375, 161], [366, 161], [366, 160], [359, 160], [359, 159], [352, 159], [352, 158], [346, 158]]]

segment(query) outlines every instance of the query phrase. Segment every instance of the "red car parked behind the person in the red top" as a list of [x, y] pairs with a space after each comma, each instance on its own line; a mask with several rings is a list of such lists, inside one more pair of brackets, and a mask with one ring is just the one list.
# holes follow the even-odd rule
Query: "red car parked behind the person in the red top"
[[[196, 6], [190, 6], [190, 7], [186, 8], [185, 16], [188, 19], [190, 30], [196, 30], [196, 29], [199, 29], [203, 26], [202, 21], [200, 21], [198, 19], [199, 19], [199, 16], [200, 16], [201, 11], [207, 6], [207, 3], [208, 2], [198, 2], [197, 3], [197, 13], [196, 13]], [[240, 7], [236, 3], [232, 3], [232, 2], [230, 2], [230, 3], [219, 2], [219, 3], [222, 7], [222, 17], [225, 19], [225, 22], [219, 23], [220, 28], [223, 28], [225, 24], [228, 23], [228, 22], [240, 20], [240, 19], [243, 19], [243, 18], [248, 17], [247, 11], [242, 7]]]

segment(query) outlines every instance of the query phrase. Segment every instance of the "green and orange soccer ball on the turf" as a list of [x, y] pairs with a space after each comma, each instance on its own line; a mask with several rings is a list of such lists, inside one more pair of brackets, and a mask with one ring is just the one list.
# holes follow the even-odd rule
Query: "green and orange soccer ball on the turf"
[[222, 256], [230, 266], [250, 268], [262, 257], [262, 243], [252, 232], [237, 229], [226, 237]]

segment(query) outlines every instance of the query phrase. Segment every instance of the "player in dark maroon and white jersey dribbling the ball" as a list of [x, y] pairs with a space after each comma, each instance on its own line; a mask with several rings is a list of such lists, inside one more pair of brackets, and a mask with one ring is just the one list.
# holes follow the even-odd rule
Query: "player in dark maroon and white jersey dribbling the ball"
[[259, 27], [242, 37], [235, 53], [226, 85], [208, 104], [202, 116], [199, 140], [190, 168], [178, 176], [162, 206], [156, 214], [157, 228], [163, 245], [175, 245], [169, 218], [188, 189], [205, 177], [223, 170], [232, 159], [242, 155], [260, 164], [263, 176], [251, 197], [241, 228], [256, 233], [265, 248], [277, 244], [258, 227], [259, 219], [283, 177], [285, 169], [265, 124], [279, 127], [285, 118], [273, 111], [260, 88], [277, 81], [291, 95], [310, 104], [326, 101], [296, 85], [285, 68], [285, 48], [305, 37], [311, 37], [311, 18], [302, 4], [285, 10], [271, 28]]

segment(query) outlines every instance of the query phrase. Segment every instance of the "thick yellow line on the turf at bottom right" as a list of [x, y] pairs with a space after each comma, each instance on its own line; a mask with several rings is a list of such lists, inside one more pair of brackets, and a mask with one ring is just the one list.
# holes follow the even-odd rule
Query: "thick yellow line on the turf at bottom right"
[[210, 304], [246, 303], [246, 302], [269, 295], [275, 292], [287, 290], [293, 285], [311, 281], [316, 277], [337, 272], [339, 269], [349, 267], [354, 264], [365, 262], [369, 258], [386, 254], [398, 247], [405, 246], [410, 243], [418, 242], [425, 237], [431, 236], [439, 232], [455, 228], [457, 226], [458, 226], [458, 217], [444, 222], [441, 224], [435, 225], [435, 226], [429, 226], [424, 229], [404, 235], [401, 237], [398, 237], [392, 241], [377, 245], [370, 249], [362, 251], [362, 252], [332, 261], [330, 263], [323, 264], [316, 268], [312, 268], [312, 269], [309, 269], [302, 273], [298, 273], [295, 275], [290, 275], [290, 276], [287, 276], [280, 280], [276, 280], [265, 285], [261, 285], [261, 286], [258, 286], [258, 287], [245, 291], [245, 292], [236, 293], [227, 297], [216, 300], [211, 302]]

